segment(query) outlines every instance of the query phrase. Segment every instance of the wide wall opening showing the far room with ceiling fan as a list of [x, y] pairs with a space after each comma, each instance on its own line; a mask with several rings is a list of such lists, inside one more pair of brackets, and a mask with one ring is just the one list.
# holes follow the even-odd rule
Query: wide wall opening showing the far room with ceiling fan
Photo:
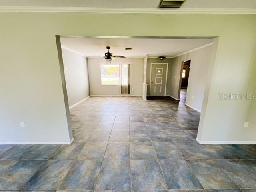
[[212, 40], [60, 37], [74, 141], [195, 140]]

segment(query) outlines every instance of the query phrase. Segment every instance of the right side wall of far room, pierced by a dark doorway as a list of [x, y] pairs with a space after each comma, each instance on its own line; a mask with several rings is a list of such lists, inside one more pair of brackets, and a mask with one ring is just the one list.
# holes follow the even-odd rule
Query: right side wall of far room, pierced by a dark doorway
[[[173, 59], [171, 96], [180, 98], [180, 70], [182, 61], [191, 60], [186, 104], [201, 112], [212, 46], [183, 54]], [[176, 76], [176, 78], [175, 78]], [[192, 99], [192, 97], [194, 97]]]

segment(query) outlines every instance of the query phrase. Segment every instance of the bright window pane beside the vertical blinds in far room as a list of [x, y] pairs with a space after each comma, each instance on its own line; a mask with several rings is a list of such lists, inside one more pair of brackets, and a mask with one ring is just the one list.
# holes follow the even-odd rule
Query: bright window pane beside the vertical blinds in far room
[[101, 65], [101, 84], [119, 85], [119, 65], [102, 64]]

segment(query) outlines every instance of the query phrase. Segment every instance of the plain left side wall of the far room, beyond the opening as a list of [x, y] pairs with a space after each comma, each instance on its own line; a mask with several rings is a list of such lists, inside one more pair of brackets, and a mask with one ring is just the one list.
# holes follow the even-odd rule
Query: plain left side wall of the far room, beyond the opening
[[62, 48], [62, 58], [68, 92], [72, 106], [90, 95], [87, 58]]

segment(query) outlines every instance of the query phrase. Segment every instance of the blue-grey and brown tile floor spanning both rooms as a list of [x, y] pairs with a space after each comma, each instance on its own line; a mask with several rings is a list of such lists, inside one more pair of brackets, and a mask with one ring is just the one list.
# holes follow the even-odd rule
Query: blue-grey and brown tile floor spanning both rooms
[[0, 145], [0, 190], [256, 192], [256, 145], [198, 144], [185, 96], [88, 98], [71, 145]]

